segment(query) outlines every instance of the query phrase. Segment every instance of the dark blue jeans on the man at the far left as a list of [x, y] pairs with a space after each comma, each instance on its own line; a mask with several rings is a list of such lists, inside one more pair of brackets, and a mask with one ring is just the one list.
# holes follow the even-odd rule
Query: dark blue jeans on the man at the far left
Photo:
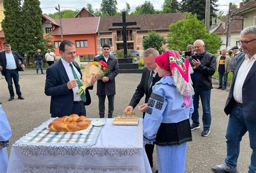
[[18, 97], [22, 96], [21, 89], [19, 87], [19, 73], [18, 70], [8, 70], [5, 71], [5, 81], [8, 83], [8, 89], [11, 97], [14, 97], [14, 88], [12, 87], [12, 79], [14, 80], [14, 85]]

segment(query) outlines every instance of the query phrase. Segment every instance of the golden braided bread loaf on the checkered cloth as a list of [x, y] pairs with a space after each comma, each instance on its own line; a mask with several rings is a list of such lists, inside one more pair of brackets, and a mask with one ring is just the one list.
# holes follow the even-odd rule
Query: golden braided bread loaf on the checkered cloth
[[53, 132], [76, 132], [88, 128], [90, 124], [91, 121], [85, 116], [79, 117], [77, 114], [71, 114], [54, 119], [48, 127]]

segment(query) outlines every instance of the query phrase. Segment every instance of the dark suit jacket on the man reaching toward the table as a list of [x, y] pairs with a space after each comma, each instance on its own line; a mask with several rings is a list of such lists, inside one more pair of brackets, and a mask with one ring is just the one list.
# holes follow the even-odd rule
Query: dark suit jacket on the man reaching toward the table
[[147, 103], [149, 101], [150, 95], [152, 93], [152, 86], [154, 86], [154, 84], [156, 84], [156, 82], [158, 82], [161, 79], [161, 77], [159, 77], [158, 74], [156, 74], [156, 76], [152, 80], [150, 90], [147, 91], [147, 80], [149, 79], [150, 72], [151, 71], [148, 70], [146, 67], [143, 68], [142, 78], [141, 78], [140, 83], [137, 86], [137, 89], [135, 90], [135, 93], [133, 94], [131, 102], [129, 104], [130, 106], [133, 107], [133, 109], [134, 109], [134, 107], [137, 106], [140, 99], [142, 99], [142, 97], [144, 95], [146, 95], [145, 103]]

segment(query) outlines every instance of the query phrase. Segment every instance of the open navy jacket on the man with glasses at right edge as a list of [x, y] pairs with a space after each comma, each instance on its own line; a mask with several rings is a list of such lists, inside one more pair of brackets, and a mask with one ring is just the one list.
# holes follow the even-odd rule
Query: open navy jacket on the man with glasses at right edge
[[[252, 57], [253, 58], [253, 57]], [[225, 105], [225, 113], [230, 114], [233, 106], [236, 104], [233, 97], [233, 90], [235, 81], [238, 80], [237, 73], [241, 66], [242, 61], [244, 61], [245, 55], [240, 55], [238, 57], [237, 67], [234, 70], [234, 75], [231, 83], [230, 93], [228, 93], [228, 98]], [[242, 85], [242, 111], [244, 113], [245, 120], [256, 124], [256, 62], [254, 62], [250, 71], [248, 72], [245, 82]]]

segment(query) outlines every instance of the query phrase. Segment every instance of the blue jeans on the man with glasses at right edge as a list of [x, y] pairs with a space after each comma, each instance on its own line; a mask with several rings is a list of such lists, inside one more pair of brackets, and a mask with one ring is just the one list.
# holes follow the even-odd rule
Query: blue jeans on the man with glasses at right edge
[[251, 164], [248, 172], [256, 172], [256, 125], [245, 121], [242, 107], [235, 105], [231, 111], [226, 132], [227, 156], [225, 163], [231, 168], [237, 167], [240, 141], [247, 131], [249, 132], [250, 147], [252, 148]]

